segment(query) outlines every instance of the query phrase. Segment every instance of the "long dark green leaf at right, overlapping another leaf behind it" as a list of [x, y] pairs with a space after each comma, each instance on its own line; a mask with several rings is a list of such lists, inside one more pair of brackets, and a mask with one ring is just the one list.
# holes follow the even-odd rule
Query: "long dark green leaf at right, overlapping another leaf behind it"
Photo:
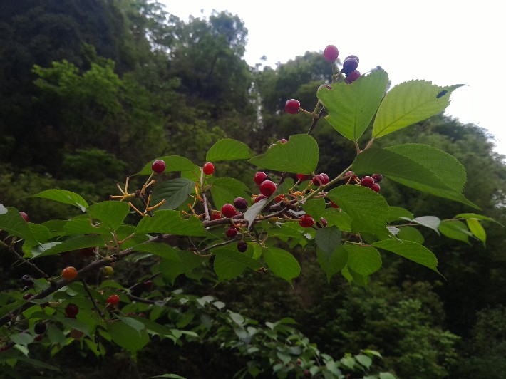
[[[418, 151], [418, 146], [413, 150]], [[403, 154], [408, 155], [408, 149], [403, 150]], [[455, 190], [433, 172], [428, 163], [428, 160], [416, 162], [406, 155], [398, 154], [391, 150], [371, 148], [361, 152], [357, 155], [353, 162], [353, 171], [357, 174], [370, 174], [371, 172], [381, 172], [384, 176], [391, 180], [406, 185], [406, 187], [414, 188], [421, 192], [427, 192], [438, 197], [451, 199], [455, 202], [461, 202], [469, 205], [470, 207], [478, 208], [477, 205], [470, 202], [465, 196], [460, 193], [460, 190]], [[415, 158], [418, 157], [415, 155]], [[440, 164], [448, 163], [450, 167], [455, 167], [455, 158], [448, 155], [448, 159], [444, 160], [443, 155], [439, 155]], [[443, 160], [443, 162], [441, 161]], [[440, 171], [438, 171], [440, 173]], [[455, 172], [458, 176], [458, 172]], [[453, 177], [451, 182], [458, 182], [457, 177]]]

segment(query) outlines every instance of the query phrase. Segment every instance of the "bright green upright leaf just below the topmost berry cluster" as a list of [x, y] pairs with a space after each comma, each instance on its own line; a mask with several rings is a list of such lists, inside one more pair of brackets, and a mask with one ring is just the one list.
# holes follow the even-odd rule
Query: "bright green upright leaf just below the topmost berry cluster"
[[329, 113], [329, 124], [348, 140], [358, 140], [378, 110], [387, 85], [388, 74], [377, 69], [352, 85], [335, 83], [331, 90], [322, 86], [317, 95]]

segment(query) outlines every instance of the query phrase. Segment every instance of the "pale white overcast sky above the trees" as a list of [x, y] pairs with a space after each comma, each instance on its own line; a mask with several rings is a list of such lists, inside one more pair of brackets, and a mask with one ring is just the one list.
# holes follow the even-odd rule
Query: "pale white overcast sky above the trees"
[[[506, 21], [500, 1], [160, 0], [187, 21], [213, 9], [237, 14], [248, 29], [244, 59], [276, 67], [332, 44], [356, 55], [358, 70], [381, 66], [392, 86], [411, 79], [455, 90], [445, 114], [485, 128], [506, 155]], [[267, 61], [261, 61], [267, 56]]]

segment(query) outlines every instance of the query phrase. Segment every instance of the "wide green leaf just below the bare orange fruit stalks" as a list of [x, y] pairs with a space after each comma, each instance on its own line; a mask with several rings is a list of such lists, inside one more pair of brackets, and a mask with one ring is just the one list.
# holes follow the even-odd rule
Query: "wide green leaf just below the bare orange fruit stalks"
[[180, 236], [205, 237], [205, 229], [197, 217], [182, 219], [180, 212], [161, 210], [153, 217], [144, 217], [135, 228], [136, 234], [167, 233]]

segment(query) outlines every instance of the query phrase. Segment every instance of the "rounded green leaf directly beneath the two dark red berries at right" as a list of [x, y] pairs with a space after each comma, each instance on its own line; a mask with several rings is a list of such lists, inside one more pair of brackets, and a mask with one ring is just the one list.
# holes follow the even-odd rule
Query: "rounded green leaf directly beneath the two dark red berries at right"
[[386, 232], [388, 204], [381, 194], [358, 185], [341, 185], [327, 197], [351, 217], [353, 232]]

